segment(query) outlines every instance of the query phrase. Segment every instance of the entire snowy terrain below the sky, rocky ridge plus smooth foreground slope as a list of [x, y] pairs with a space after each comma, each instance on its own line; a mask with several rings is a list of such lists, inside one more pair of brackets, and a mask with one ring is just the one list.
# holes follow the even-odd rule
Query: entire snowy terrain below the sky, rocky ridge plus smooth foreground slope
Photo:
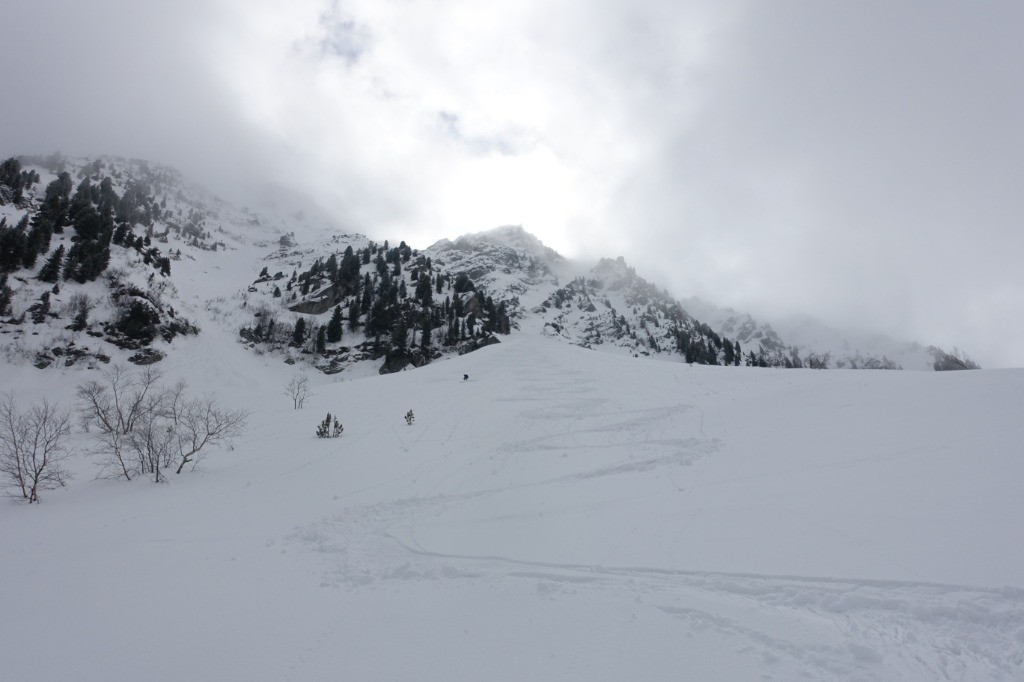
[[[141, 162], [16, 170], [7, 677], [1024, 679], [1024, 371], [754, 369], [757, 323], [520, 228], [418, 250]], [[83, 419], [115, 390], [144, 418]]]

